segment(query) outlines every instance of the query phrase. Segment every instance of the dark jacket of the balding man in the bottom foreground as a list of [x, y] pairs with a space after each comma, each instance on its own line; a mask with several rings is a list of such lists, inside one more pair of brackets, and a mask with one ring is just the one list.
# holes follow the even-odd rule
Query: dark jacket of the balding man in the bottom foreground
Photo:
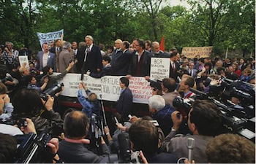
[[77, 163], [99, 163], [103, 157], [110, 154], [106, 144], [100, 144], [102, 155], [96, 155], [89, 151], [84, 144], [61, 141], [59, 144], [59, 157], [69, 164]]

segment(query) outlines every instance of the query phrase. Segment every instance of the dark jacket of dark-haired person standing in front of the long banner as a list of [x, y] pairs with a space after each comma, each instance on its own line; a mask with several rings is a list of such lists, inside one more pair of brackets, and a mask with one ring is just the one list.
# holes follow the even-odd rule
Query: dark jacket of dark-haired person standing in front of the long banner
[[121, 93], [116, 109], [124, 120], [128, 120], [128, 115], [132, 112], [132, 91], [128, 87]]

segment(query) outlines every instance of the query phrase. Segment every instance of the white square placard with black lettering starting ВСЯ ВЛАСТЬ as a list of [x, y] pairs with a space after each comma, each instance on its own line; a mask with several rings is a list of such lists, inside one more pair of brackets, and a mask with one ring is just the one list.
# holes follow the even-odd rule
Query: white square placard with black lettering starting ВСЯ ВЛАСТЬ
[[170, 75], [169, 58], [151, 58], [150, 79], [165, 79]]

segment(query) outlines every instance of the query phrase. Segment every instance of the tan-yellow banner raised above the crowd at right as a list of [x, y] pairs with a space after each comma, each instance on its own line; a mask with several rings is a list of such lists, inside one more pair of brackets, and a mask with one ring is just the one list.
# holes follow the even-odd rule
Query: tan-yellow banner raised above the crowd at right
[[183, 47], [181, 55], [187, 58], [195, 58], [200, 55], [200, 58], [207, 58], [211, 55], [212, 46], [210, 47]]

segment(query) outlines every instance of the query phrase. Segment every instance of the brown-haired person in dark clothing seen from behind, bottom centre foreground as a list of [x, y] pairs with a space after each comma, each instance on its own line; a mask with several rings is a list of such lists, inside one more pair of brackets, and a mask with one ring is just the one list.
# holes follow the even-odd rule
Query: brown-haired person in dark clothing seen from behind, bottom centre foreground
[[162, 152], [157, 154], [159, 143], [157, 127], [148, 120], [138, 120], [129, 128], [129, 140], [131, 148], [135, 151], [143, 151], [148, 163], [177, 163], [176, 155]]

